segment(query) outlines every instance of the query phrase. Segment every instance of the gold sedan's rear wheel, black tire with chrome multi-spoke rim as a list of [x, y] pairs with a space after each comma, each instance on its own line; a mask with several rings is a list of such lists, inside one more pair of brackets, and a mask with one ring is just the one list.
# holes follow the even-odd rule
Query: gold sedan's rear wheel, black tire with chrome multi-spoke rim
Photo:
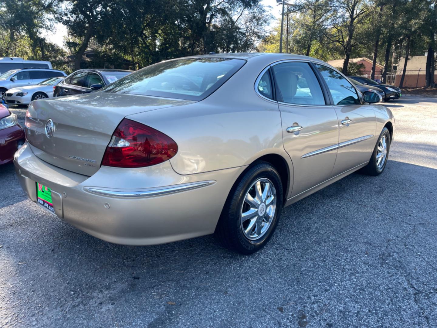
[[270, 240], [281, 215], [283, 192], [276, 169], [260, 161], [235, 183], [215, 228], [225, 248], [248, 255]]

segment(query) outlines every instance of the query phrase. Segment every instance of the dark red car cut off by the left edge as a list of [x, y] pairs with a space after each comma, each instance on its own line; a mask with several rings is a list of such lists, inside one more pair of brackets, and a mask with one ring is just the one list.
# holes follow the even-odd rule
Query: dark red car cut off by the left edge
[[17, 115], [0, 104], [0, 165], [9, 163], [25, 141], [25, 134], [18, 124]]

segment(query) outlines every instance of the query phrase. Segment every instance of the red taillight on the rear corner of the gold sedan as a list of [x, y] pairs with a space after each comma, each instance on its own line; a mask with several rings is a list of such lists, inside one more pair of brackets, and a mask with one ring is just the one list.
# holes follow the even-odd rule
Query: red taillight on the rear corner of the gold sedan
[[162, 163], [177, 153], [177, 144], [164, 133], [123, 119], [103, 155], [102, 165], [144, 167]]

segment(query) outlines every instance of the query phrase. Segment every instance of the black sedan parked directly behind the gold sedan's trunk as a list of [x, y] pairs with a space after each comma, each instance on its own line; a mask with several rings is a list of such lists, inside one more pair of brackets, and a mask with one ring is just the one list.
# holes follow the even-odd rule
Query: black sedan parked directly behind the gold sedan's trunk
[[94, 92], [132, 72], [111, 69], [76, 70], [55, 87], [53, 97]]

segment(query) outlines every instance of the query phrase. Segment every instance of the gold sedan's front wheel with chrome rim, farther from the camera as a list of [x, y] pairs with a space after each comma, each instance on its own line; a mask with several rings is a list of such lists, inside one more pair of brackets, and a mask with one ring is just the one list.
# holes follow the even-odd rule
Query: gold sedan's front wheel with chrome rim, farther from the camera
[[379, 135], [378, 142], [373, 150], [369, 164], [361, 169], [362, 173], [377, 176], [384, 171], [385, 166], [387, 165], [390, 143], [390, 132], [386, 127], [384, 127]]

